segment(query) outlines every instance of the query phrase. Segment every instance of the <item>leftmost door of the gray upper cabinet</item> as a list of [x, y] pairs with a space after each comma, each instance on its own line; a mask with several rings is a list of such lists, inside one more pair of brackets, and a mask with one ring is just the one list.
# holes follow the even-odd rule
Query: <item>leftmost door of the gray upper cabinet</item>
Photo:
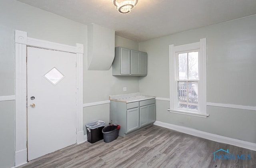
[[120, 74], [130, 75], [130, 49], [121, 48]]

